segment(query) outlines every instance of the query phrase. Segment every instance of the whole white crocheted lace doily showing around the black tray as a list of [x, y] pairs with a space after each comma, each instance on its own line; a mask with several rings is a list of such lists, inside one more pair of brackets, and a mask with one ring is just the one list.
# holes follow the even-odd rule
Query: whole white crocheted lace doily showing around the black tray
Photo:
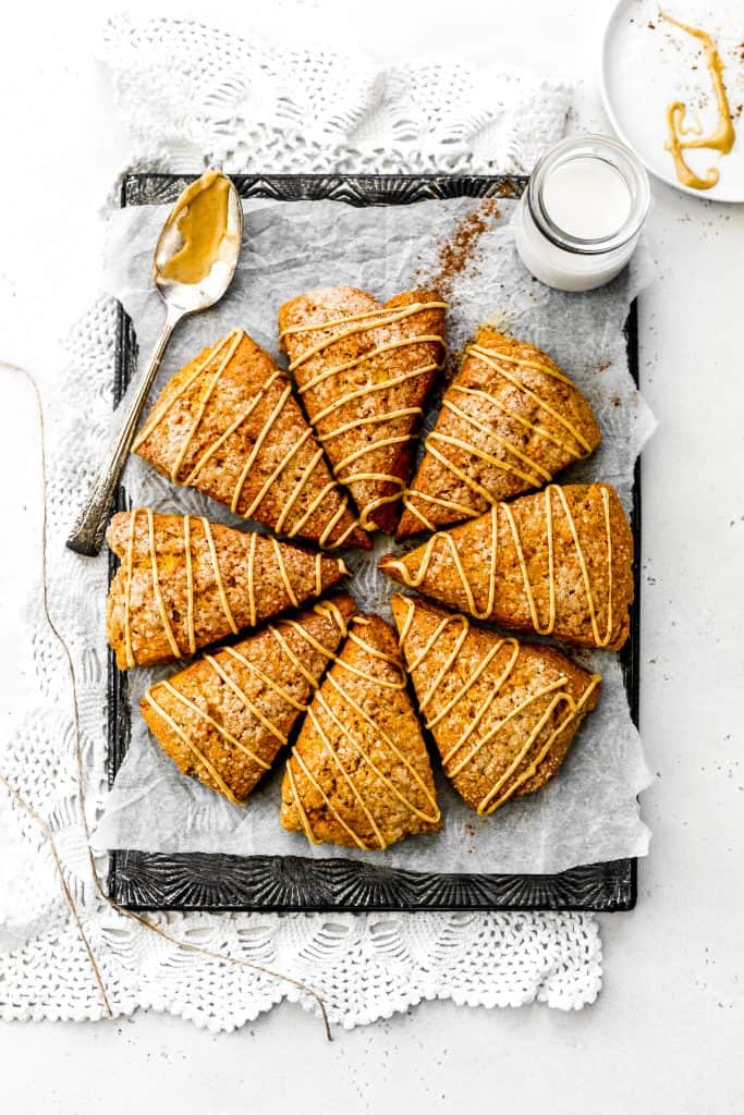
[[[564, 124], [568, 90], [526, 71], [255, 46], [189, 21], [106, 29], [104, 54], [132, 136], [131, 168], [524, 171]], [[47, 421], [48, 588], [71, 651], [86, 803], [106, 792], [107, 559], [69, 553], [73, 510], [110, 419], [115, 308], [74, 330], [62, 375], [40, 385]], [[298, 988], [184, 951], [104, 905], [93, 886], [77, 793], [71, 688], [39, 589], [29, 608], [28, 689], [17, 692], [0, 769], [48, 823], [114, 1014], [167, 1010], [213, 1030], [253, 1019]], [[0, 792], [0, 1016], [99, 1018], [104, 1006], [50, 845]], [[102, 869], [104, 865], [102, 864]], [[422, 999], [484, 1006], [596, 998], [601, 943], [581, 914], [162, 914], [178, 940], [305, 980], [331, 1021], [370, 1022]]]

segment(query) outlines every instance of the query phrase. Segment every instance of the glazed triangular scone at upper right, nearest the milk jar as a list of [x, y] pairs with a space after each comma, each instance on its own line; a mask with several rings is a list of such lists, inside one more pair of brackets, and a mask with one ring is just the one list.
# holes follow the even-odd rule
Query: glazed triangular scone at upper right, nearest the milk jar
[[475, 518], [542, 487], [600, 438], [591, 407], [545, 352], [483, 327], [426, 438], [397, 537]]

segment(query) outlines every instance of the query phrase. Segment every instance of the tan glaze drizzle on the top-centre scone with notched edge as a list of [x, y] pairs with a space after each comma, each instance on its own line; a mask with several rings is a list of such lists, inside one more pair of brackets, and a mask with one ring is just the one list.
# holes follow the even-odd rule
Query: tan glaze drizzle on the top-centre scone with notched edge
[[[379, 310], [369, 310], [365, 313], [350, 314], [344, 318], [336, 318], [331, 321], [319, 321], [311, 322], [307, 326], [290, 326], [287, 329], [282, 329], [279, 334], [279, 339], [282, 340], [284, 337], [307, 333], [307, 332], [318, 332], [327, 329], [336, 328], [337, 326], [350, 326], [351, 328], [344, 330], [339, 333], [334, 333], [331, 337], [327, 337], [323, 340], [311, 345], [308, 349], [296, 357], [289, 366], [290, 371], [296, 371], [297, 368], [307, 363], [315, 356], [319, 356], [326, 349], [336, 345], [338, 341], [345, 340], [347, 337], [351, 337], [356, 333], [366, 332], [371, 329], [383, 329], [388, 326], [395, 324], [405, 318], [412, 317], [416, 313], [422, 313], [427, 310], [446, 310], [446, 302], [413, 302], [410, 306], [403, 308], [392, 308], [385, 309], [384, 307]], [[374, 320], [377, 319], [377, 320]], [[349, 371], [352, 368], [364, 365], [369, 360], [374, 360], [375, 357], [381, 356], [385, 352], [395, 351], [398, 348], [407, 348], [410, 345], [423, 345], [423, 343], [438, 343], [442, 347], [442, 351], [446, 351], [446, 345], [444, 338], [438, 333], [419, 333], [415, 337], [405, 337], [395, 341], [389, 341], [385, 345], [378, 345], [373, 349], [364, 352], [361, 356], [355, 357], [351, 360], [347, 360], [344, 363], [335, 365], [330, 368], [325, 368], [322, 371], [318, 372], [307, 384], [298, 387], [298, 394], [305, 395], [307, 391], [312, 390], [320, 384], [325, 382], [334, 376], [338, 376], [344, 371]], [[357, 388], [356, 390], [347, 391], [341, 395], [338, 399], [335, 399], [331, 404], [323, 407], [317, 414], [311, 416], [312, 425], [316, 429], [319, 440], [327, 446], [327, 443], [336, 437], [347, 434], [351, 429], [358, 429], [361, 426], [379, 425], [383, 423], [390, 423], [397, 420], [398, 418], [407, 416], [421, 416], [423, 414], [422, 407], [403, 407], [396, 410], [388, 410], [381, 415], [373, 415], [371, 417], [358, 418], [354, 421], [344, 423], [336, 429], [329, 433], [322, 434], [318, 428], [318, 424], [328, 418], [329, 415], [334, 414], [340, 407], [344, 407], [348, 403], [354, 403], [356, 399], [363, 398], [367, 395], [375, 394], [377, 391], [387, 390], [388, 388], [398, 387], [400, 384], [406, 382], [409, 379], [417, 379], [419, 376], [427, 375], [429, 371], [437, 371], [442, 367], [442, 360], [434, 363], [422, 365], [421, 367], [413, 368], [409, 371], [403, 372], [399, 376], [394, 376], [390, 379], [383, 380], [378, 384], [367, 384], [365, 387]], [[393, 445], [403, 445], [406, 442], [416, 440], [416, 434], [400, 434], [394, 437], [380, 438], [377, 442], [370, 442], [368, 445], [363, 446], [359, 449], [348, 454], [341, 460], [332, 464], [334, 476], [340, 484], [351, 485], [355, 483], [361, 483], [366, 481], [375, 481], [377, 483], [389, 483], [394, 484], [398, 491], [393, 495], [380, 496], [377, 500], [370, 500], [364, 507], [359, 507], [359, 525], [367, 531], [376, 529], [376, 524], [373, 522], [371, 516], [379, 507], [388, 503], [395, 503], [400, 498], [400, 492], [406, 486], [405, 478], [395, 476], [392, 473], [380, 473], [376, 471], [365, 472], [351, 471], [345, 472], [351, 465], [356, 464], [357, 460], [367, 456], [370, 453], [375, 453], [378, 449], [386, 449]]]

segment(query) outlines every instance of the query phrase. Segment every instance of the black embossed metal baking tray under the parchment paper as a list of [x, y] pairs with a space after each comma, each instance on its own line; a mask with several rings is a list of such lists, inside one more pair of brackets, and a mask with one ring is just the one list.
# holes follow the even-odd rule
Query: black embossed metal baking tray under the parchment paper
[[[193, 176], [132, 174], [120, 204], [172, 203]], [[526, 178], [512, 175], [239, 175], [241, 197], [277, 201], [331, 198], [349, 205], [406, 205], [441, 197], [516, 197]], [[637, 311], [626, 327], [630, 371], [638, 380]], [[119, 309], [114, 405], [136, 366], [132, 322]], [[118, 495], [119, 508], [126, 494]], [[631, 525], [636, 542], [636, 599], [621, 665], [630, 711], [638, 723], [640, 583], [640, 466], [636, 465]], [[112, 559], [112, 573], [114, 560]], [[114, 780], [129, 741], [126, 673], [108, 658], [108, 775]], [[637, 861], [615, 860], [554, 875], [433, 874], [355, 860], [302, 856], [154, 854], [132, 850], [109, 856], [110, 896], [133, 910], [631, 910]]]

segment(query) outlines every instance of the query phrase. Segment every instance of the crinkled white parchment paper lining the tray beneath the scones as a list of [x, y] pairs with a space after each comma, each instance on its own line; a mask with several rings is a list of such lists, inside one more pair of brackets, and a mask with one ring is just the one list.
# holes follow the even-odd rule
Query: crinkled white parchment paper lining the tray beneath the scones
[[[631, 300], [654, 275], [653, 263], [641, 245], [630, 268], [599, 291], [550, 290], [525, 272], [515, 253], [510, 229], [515, 204], [499, 201], [499, 213], [485, 221], [464, 265], [460, 252], [453, 269], [446, 245], [462, 243], [463, 222], [480, 210], [481, 203], [471, 198], [370, 209], [327, 201], [244, 202], [243, 250], [233, 285], [218, 307], [180, 327], [156, 389], [234, 326], [278, 356], [278, 308], [302, 291], [350, 284], [384, 301], [400, 290], [439, 281], [450, 302], [452, 352], [467, 342], [479, 323], [489, 321], [547, 349], [574, 379], [597, 413], [603, 439], [589, 460], [560, 478], [608, 481], [629, 506], [635, 459], [655, 421], [628, 372], [624, 324]], [[166, 215], [167, 207], [128, 209], [116, 213], [109, 225], [108, 287], [134, 321], [143, 357], [163, 319], [149, 273]], [[436, 400], [429, 424], [435, 414]], [[199, 493], [174, 487], [137, 457], [127, 465], [125, 483], [135, 504], [245, 526]], [[390, 547], [390, 540], [380, 536], [371, 554], [355, 552], [348, 559], [354, 572], [349, 588], [360, 607], [388, 619], [395, 585], [380, 576], [376, 562]], [[366, 859], [413, 871], [543, 873], [644, 855], [649, 833], [637, 795], [650, 779], [618, 658], [610, 651], [572, 653], [602, 675], [602, 697], [550, 785], [480, 818], [450, 787], [435, 757], [443, 831]], [[96, 832], [97, 846], [358, 859], [351, 850], [311, 847], [305, 836], [281, 828], [282, 757], [244, 808], [180, 774], [147, 733], [138, 702], [154, 678], [182, 666], [129, 672], [132, 741]]]

